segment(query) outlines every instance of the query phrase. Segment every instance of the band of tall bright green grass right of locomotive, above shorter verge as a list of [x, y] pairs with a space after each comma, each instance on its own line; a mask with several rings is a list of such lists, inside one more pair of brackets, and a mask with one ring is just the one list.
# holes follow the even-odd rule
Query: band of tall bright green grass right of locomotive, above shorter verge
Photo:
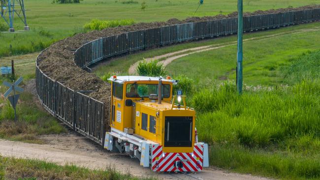
[[285, 90], [244, 92], [234, 84], [200, 90], [192, 98], [199, 136], [206, 142], [266, 147], [304, 134], [320, 137], [320, 83], [303, 81]]

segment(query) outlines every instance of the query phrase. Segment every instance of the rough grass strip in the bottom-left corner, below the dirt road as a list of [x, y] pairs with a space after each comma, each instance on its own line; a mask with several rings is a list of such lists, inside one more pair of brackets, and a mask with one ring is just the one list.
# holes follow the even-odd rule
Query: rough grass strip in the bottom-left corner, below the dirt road
[[75, 165], [0, 156], [0, 180], [154, 180], [137, 178], [130, 172], [119, 173], [113, 167], [91, 170]]

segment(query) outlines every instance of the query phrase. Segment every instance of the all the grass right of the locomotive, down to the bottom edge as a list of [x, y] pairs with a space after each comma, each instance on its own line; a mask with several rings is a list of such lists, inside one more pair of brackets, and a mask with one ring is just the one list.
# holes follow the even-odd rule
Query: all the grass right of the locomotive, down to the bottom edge
[[[280, 68], [290, 86], [201, 85], [191, 97], [210, 163], [240, 173], [286, 180], [320, 179], [320, 51]], [[259, 77], [256, 77], [258, 81]]]

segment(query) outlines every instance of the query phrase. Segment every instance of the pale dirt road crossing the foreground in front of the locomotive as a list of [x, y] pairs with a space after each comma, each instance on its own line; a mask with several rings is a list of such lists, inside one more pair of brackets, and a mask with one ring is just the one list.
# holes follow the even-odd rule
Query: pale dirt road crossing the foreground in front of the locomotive
[[226, 173], [213, 168], [205, 169], [201, 173], [189, 174], [189, 176], [175, 173], [154, 173], [148, 168], [141, 167], [137, 159], [132, 159], [125, 154], [103, 150], [99, 145], [75, 132], [41, 136], [40, 138], [47, 144], [37, 145], [0, 140], [0, 154], [2, 156], [46, 160], [60, 165], [69, 163], [92, 169], [112, 166], [119, 171], [129, 171], [134, 176], [157, 177], [163, 180], [194, 180], [194, 178], [199, 180], [267, 180], [250, 175]]

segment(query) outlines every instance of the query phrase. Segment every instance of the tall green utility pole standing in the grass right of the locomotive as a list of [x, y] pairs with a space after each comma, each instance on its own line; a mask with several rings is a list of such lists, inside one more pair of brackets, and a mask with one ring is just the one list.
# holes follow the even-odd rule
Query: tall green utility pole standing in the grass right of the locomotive
[[242, 34], [243, 34], [243, 3], [238, 0], [238, 53], [237, 53], [237, 90], [242, 93]]

